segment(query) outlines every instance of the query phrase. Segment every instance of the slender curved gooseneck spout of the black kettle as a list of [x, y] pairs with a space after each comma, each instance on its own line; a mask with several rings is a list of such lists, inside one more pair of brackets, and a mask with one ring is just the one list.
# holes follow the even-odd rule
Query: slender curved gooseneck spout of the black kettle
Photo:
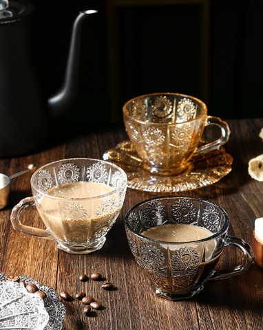
[[58, 118], [66, 113], [74, 103], [78, 91], [81, 28], [84, 20], [96, 12], [96, 10], [83, 10], [74, 21], [63, 85], [54, 96], [48, 99], [48, 108], [52, 118]]

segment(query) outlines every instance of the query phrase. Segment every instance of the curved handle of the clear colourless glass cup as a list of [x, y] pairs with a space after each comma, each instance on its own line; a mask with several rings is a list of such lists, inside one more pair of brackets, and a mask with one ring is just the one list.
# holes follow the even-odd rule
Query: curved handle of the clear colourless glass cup
[[20, 222], [20, 214], [25, 208], [28, 208], [28, 206], [36, 206], [36, 199], [34, 197], [24, 198], [19, 201], [16, 206], [14, 206], [10, 215], [13, 228], [19, 232], [23, 232], [23, 234], [33, 235], [43, 239], [54, 239], [54, 237], [47, 230], [23, 225]]

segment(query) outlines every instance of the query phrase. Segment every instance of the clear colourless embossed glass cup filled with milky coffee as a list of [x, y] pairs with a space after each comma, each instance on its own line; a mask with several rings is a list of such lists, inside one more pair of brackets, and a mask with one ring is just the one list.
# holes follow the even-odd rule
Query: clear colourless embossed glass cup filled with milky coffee
[[[31, 177], [33, 197], [14, 206], [14, 229], [56, 240], [59, 249], [87, 254], [103, 247], [123, 206], [127, 175], [98, 159], [63, 159], [42, 166]], [[46, 230], [23, 225], [21, 212], [36, 206]]]

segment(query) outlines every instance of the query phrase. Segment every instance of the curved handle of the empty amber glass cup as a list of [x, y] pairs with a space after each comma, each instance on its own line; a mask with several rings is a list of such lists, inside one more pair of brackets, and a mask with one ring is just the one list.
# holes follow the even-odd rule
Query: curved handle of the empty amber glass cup
[[202, 153], [208, 153], [209, 151], [219, 148], [220, 146], [222, 146], [222, 144], [225, 144], [229, 140], [230, 129], [229, 129], [229, 125], [227, 124], [227, 122], [224, 122], [223, 120], [221, 120], [218, 117], [213, 117], [213, 116], [209, 115], [207, 117], [206, 126], [209, 126], [209, 125], [219, 126], [221, 129], [221, 137], [218, 140], [215, 140], [211, 143], [205, 144], [204, 146], [201, 146], [200, 148], [198, 148], [196, 150], [196, 152], [194, 153], [195, 156], [201, 155]]

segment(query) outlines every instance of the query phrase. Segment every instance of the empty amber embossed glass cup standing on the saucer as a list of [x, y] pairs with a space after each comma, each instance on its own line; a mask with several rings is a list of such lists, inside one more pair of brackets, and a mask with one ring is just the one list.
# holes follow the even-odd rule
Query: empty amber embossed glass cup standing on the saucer
[[[158, 175], [182, 172], [195, 153], [201, 155], [229, 140], [227, 122], [207, 115], [207, 106], [198, 98], [176, 93], [147, 94], [123, 106], [123, 120], [129, 140], [145, 169]], [[198, 148], [204, 127], [220, 127], [218, 140]]]

